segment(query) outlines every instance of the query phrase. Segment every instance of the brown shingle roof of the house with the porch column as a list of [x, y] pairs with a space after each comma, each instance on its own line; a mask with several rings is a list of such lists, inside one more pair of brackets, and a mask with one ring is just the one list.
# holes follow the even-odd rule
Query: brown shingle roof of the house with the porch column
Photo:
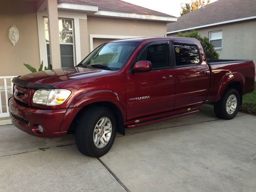
[[122, 13], [136, 13], [136, 14], [143, 14], [143, 15], [175, 17], [172, 15], [168, 15], [165, 13], [140, 7], [134, 4], [123, 2], [121, 0], [100, 0], [100, 1], [99, 0], [98, 1], [97, 0], [58, 0], [58, 3], [71, 3], [71, 4], [79, 4], [79, 5], [98, 6], [98, 9], [102, 11], [114, 11], [114, 12], [122, 12]]

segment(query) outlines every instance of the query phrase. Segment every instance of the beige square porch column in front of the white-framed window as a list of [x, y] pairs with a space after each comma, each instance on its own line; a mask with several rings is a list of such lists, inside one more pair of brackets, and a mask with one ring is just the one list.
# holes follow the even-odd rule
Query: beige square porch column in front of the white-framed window
[[59, 48], [59, 22], [57, 0], [46, 0], [48, 11], [50, 55], [52, 68], [60, 68], [60, 48]]

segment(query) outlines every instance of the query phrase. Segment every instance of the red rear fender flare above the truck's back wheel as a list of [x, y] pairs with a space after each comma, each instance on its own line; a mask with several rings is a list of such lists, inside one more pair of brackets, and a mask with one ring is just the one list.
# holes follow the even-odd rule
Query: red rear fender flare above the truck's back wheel
[[219, 88], [219, 91], [217, 93], [216, 101], [219, 101], [227, 89], [227, 87], [233, 83], [233, 82], [239, 82], [242, 86], [242, 93], [244, 93], [244, 86], [245, 86], [245, 79], [244, 76], [241, 73], [234, 72], [234, 73], [227, 73], [221, 80], [221, 86]]

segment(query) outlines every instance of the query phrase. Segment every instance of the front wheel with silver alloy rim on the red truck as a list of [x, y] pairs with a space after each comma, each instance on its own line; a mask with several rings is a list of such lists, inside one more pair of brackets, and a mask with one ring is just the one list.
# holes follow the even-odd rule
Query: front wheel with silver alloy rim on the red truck
[[[103, 124], [102, 127], [101, 124]], [[109, 127], [112, 127], [111, 135], [107, 133], [111, 130]], [[105, 130], [105, 132], [101, 130]], [[82, 154], [91, 157], [101, 157], [105, 155], [110, 151], [115, 137], [116, 118], [109, 108], [105, 108], [104, 106], [92, 106], [80, 116], [76, 127], [75, 138], [76, 146]], [[106, 140], [108, 140], [108, 142], [102, 142]], [[98, 145], [95, 142], [98, 143]]]

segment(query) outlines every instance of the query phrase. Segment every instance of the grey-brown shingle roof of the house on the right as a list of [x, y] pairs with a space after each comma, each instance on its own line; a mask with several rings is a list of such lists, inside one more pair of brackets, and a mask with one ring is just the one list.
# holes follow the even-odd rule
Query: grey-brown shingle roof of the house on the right
[[167, 24], [167, 32], [250, 16], [256, 16], [256, 0], [219, 0], [178, 17]]

